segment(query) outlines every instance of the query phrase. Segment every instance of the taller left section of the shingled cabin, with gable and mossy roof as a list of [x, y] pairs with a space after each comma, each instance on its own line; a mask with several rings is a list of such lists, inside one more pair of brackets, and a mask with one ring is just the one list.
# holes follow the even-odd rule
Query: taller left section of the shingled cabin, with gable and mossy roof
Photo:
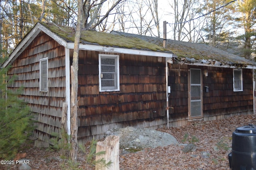
[[[2, 67], [12, 65], [8, 86], [23, 86], [33, 136], [50, 142], [60, 134], [63, 105], [70, 134], [70, 66], [74, 28], [37, 23]], [[166, 70], [172, 52], [139, 38], [82, 30], [78, 68], [78, 142], [102, 138], [110, 128], [166, 125]], [[65, 112], [63, 112], [65, 113]]]

